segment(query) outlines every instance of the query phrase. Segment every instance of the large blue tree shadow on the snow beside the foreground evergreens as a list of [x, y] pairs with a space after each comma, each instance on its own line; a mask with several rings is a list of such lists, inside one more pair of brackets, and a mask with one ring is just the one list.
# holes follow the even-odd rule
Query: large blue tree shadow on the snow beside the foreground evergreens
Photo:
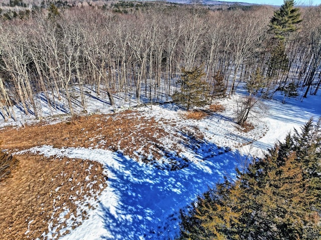
[[[121, 164], [105, 167], [112, 177], [108, 186], [117, 195], [116, 205], [100, 202], [101, 218], [109, 233], [103, 239], [169, 239], [179, 232], [179, 209], [223, 179], [234, 175], [236, 155], [229, 148], [206, 140], [186, 143], [189, 165], [162, 170], [124, 157]], [[188, 156], [187, 156], [188, 155]]]

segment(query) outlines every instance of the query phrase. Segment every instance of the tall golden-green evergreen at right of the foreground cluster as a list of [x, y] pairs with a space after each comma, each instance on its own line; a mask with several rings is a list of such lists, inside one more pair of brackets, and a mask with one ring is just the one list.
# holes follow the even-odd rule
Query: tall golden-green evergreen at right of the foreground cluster
[[253, 224], [252, 230], [243, 238], [295, 239], [307, 223], [311, 212], [308, 203], [315, 199], [306, 194], [307, 181], [303, 178], [301, 163], [297, 161], [295, 152], [289, 153], [279, 163], [279, 149], [275, 148], [258, 163], [256, 169], [261, 172], [256, 181], [243, 181], [249, 191], [257, 189], [250, 206], [255, 214], [244, 215], [241, 219], [241, 222]]

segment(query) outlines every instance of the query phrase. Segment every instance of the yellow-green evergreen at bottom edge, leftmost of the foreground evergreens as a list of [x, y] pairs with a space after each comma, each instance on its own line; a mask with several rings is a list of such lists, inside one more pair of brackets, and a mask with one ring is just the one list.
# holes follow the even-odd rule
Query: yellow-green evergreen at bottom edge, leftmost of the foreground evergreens
[[[238, 231], [245, 225], [239, 217], [247, 211], [244, 194], [238, 184], [232, 184], [225, 178], [198, 197], [193, 214], [181, 211], [182, 225], [179, 239], [239, 239]], [[242, 203], [244, 202], [244, 203]]]

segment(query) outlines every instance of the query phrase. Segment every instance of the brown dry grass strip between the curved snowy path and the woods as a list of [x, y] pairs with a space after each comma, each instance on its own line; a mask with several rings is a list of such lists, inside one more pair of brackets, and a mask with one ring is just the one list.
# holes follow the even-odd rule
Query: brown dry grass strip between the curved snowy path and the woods
[[3, 147], [9, 151], [27, 149], [37, 145], [54, 147], [97, 147], [125, 155], [144, 148], [145, 156], [152, 154], [151, 145], [166, 135], [154, 118], [145, 118], [138, 112], [125, 111], [109, 115], [79, 116], [54, 125], [27, 125], [25, 128], [0, 130]]

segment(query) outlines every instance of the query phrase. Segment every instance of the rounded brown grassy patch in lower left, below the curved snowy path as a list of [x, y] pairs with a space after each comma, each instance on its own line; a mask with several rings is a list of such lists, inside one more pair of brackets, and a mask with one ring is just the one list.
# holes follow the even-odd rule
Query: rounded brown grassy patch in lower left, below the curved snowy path
[[17, 158], [12, 177], [0, 182], [1, 239], [47, 239], [49, 228], [55, 238], [68, 233], [94, 207], [85, 202], [107, 185], [98, 162], [33, 154]]

